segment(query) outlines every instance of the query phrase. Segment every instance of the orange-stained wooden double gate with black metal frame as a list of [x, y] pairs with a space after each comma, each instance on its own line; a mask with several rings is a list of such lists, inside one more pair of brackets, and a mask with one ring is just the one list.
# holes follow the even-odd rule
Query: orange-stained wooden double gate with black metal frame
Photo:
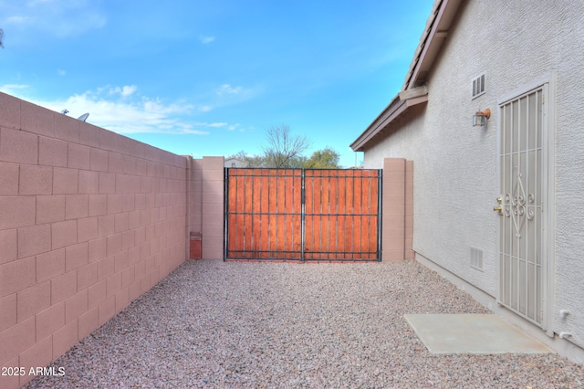
[[381, 170], [225, 169], [226, 259], [381, 260]]

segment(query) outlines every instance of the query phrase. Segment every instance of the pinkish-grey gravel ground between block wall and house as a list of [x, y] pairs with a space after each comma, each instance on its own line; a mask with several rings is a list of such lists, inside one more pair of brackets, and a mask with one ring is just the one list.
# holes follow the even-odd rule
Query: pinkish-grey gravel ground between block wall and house
[[488, 312], [415, 261], [188, 261], [27, 387], [582, 387], [558, 354], [433, 355], [403, 319]]

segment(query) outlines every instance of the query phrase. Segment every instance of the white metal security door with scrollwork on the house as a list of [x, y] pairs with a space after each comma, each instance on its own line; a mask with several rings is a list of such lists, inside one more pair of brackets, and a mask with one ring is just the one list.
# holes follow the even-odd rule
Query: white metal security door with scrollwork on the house
[[[547, 326], [547, 84], [499, 104], [498, 302]], [[496, 209], [496, 208], [495, 208]]]

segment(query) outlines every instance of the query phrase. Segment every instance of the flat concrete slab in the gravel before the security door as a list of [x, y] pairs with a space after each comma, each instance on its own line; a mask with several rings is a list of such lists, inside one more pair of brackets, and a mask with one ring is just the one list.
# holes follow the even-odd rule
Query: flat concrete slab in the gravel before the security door
[[416, 314], [404, 318], [432, 353], [551, 352], [494, 314]]

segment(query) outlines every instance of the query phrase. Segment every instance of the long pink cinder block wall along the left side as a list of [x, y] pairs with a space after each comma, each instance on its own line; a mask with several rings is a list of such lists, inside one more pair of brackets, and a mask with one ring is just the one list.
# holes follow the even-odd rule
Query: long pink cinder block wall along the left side
[[189, 161], [0, 93], [0, 387], [188, 258]]

